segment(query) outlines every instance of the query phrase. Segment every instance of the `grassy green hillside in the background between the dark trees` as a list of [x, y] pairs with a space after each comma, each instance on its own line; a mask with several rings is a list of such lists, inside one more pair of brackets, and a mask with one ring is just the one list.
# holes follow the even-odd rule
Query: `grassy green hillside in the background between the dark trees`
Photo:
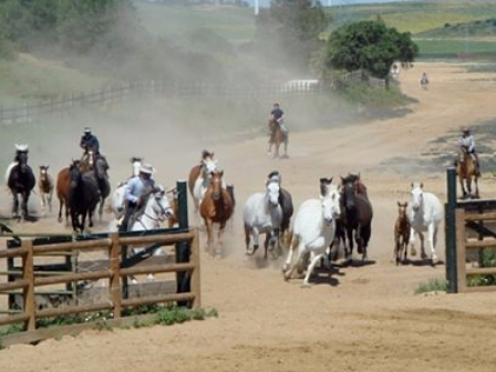
[[[255, 32], [252, 9], [227, 6], [180, 7], [149, 2], [136, 2], [135, 7], [145, 30], [156, 37], [174, 38], [179, 44], [185, 34], [202, 30], [211, 31], [232, 44], [251, 40]], [[333, 17], [331, 30], [343, 23], [380, 16], [389, 27], [414, 34], [415, 42], [421, 48], [421, 58], [496, 53], [496, 24], [485, 22], [496, 16], [494, 0], [409, 1], [340, 6], [327, 10]], [[463, 24], [466, 22], [474, 32], [464, 32]], [[447, 23], [448, 28], [445, 27]], [[476, 32], [477, 28], [484, 28], [484, 31]], [[204, 33], [208, 35], [207, 32]], [[200, 42], [203, 40], [197, 39]], [[221, 62], [227, 68], [242, 69], [242, 63], [234, 54], [225, 54]], [[106, 83], [106, 76], [90, 75], [68, 68], [60, 61], [22, 54], [17, 61], [0, 60], [0, 105], [95, 90]]]

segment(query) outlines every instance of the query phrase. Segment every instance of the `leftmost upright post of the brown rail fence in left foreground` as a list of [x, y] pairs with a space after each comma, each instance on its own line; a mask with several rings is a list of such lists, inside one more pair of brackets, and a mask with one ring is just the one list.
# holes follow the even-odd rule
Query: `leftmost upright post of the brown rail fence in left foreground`
[[28, 287], [23, 290], [24, 297], [24, 312], [29, 316], [25, 322], [27, 331], [34, 331], [37, 328], [35, 318], [35, 300], [34, 300], [34, 258], [33, 258], [33, 241], [31, 239], [22, 240], [22, 248], [27, 249], [22, 258], [22, 279], [25, 280]]

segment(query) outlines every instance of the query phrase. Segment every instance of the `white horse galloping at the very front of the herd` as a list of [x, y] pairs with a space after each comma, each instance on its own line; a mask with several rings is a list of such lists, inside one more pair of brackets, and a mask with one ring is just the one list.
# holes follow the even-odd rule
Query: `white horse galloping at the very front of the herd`
[[[324, 258], [326, 266], [330, 268], [326, 250], [334, 240], [335, 219], [341, 214], [340, 194], [337, 186], [330, 185], [331, 182], [332, 178], [328, 180], [324, 193], [321, 189], [320, 199], [304, 202], [294, 217], [292, 242], [282, 273], [286, 280], [290, 279], [294, 269], [307, 262], [307, 256], [310, 255], [303, 287], [309, 286], [313, 268], [321, 258]], [[297, 249], [297, 258], [293, 260]]]

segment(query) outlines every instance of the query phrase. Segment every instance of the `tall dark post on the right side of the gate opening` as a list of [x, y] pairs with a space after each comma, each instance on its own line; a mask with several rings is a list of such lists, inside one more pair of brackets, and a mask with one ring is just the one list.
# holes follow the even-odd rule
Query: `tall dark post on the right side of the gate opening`
[[446, 291], [458, 292], [457, 264], [456, 264], [456, 170], [454, 167], [446, 169], [447, 203], [445, 210], [446, 234]]

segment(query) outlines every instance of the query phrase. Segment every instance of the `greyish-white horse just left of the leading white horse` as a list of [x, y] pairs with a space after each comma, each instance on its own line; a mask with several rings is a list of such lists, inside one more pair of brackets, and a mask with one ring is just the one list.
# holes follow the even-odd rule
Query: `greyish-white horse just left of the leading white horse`
[[[252, 256], [258, 247], [258, 237], [266, 235], [264, 258], [267, 258], [267, 250], [270, 251], [277, 247], [279, 239], [279, 229], [282, 223], [282, 208], [279, 204], [279, 179], [267, 180], [266, 192], [252, 194], [245, 203], [242, 217], [245, 220], [245, 240], [246, 252]], [[254, 236], [254, 249], [250, 250], [250, 236]]]

